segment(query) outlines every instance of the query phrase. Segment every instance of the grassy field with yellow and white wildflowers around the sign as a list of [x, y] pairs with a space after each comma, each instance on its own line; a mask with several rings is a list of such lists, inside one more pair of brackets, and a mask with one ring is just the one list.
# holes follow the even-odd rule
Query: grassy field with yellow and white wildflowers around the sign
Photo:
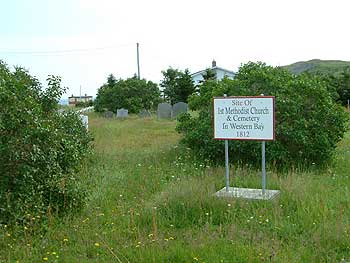
[[[327, 171], [268, 172], [281, 196], [265, 202], [213, 197], [224, 169], [178, 146], [175, 121], [91, 115], [89, 124], [86, 207], [41, 228], [0, 226], [0, 262], [350, 261], [349, 134]], [[260, 187], [259, 171], [231, 172], [235, 186]]]

